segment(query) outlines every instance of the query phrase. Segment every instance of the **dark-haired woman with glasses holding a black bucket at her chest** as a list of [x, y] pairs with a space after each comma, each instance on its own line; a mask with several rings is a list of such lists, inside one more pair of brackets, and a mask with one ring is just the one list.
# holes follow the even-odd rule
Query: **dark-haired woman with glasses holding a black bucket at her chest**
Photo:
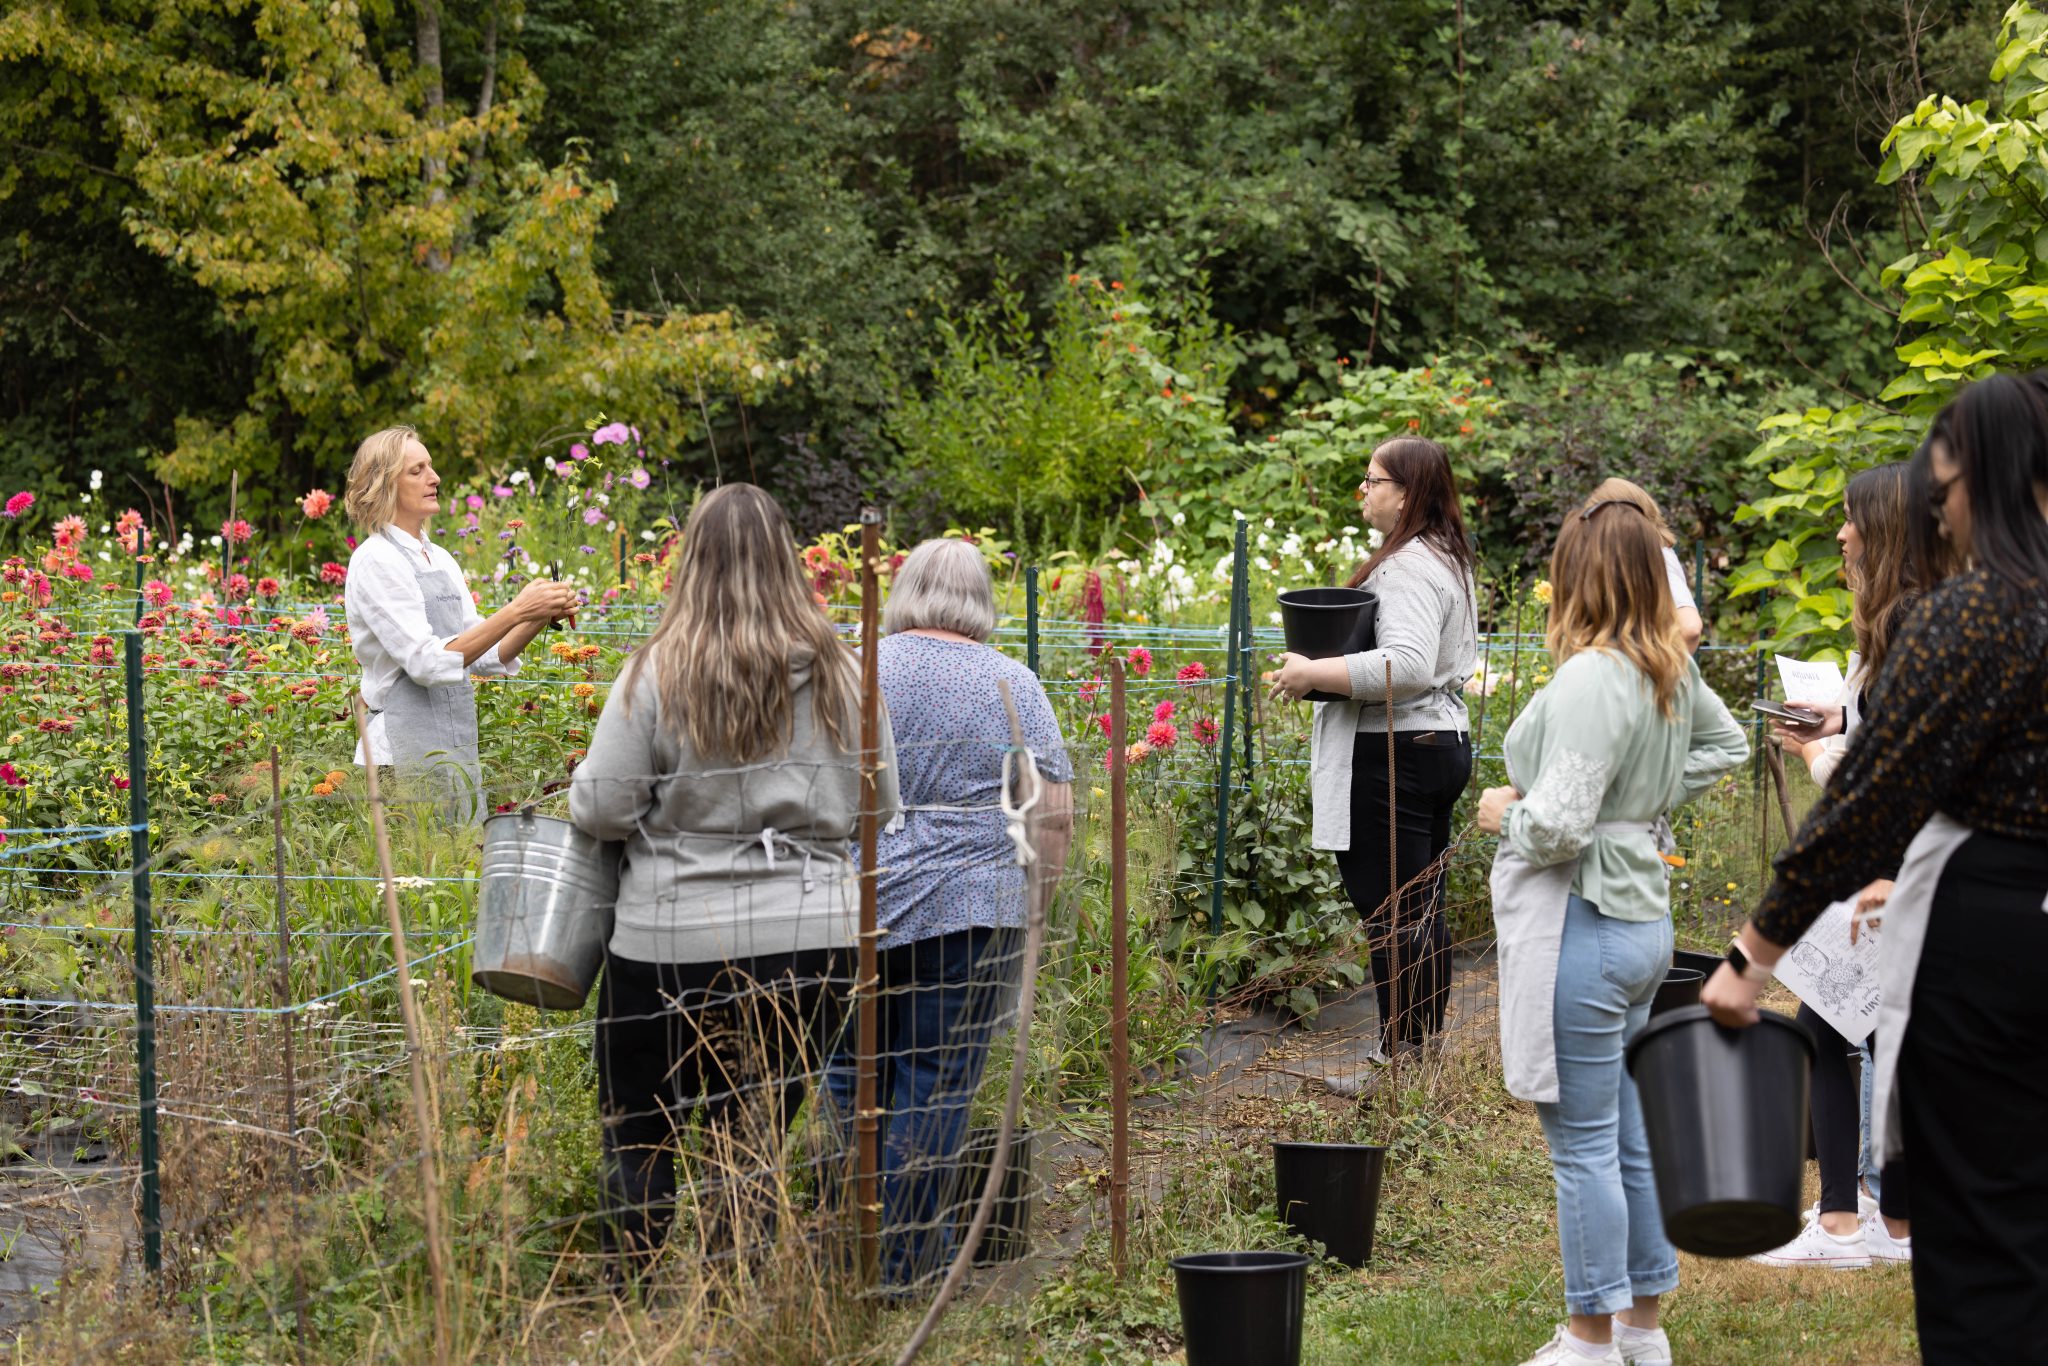
[[1442, 856], [1450, 811], [1473, 774], [1464, 684], [1479, 659], [1479, 614], [1473, 547], [1444, 446], [1419, 436], [1380, 444], [1358, 502], [1382, 539], [1350, 586], [1378, 594], [1378, 647], [1331, 659], [1284, 653], [1274, 698], [1350, 698], [1315, 709], [1311, 840], [1335, 852], [1343, 889], [1366, 922], [1380, 1047], [1391, 1055], [1442, 1028], [1450, 1001]]

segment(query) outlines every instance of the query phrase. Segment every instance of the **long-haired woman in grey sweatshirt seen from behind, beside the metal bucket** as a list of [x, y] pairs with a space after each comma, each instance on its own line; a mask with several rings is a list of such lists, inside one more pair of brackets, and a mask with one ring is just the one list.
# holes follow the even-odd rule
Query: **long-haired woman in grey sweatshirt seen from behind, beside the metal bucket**
[[[887, 821], [887, 721], [881, 739]], [[860, 817], [854, 657], [752, 483], [690, 512], [668, 606], [604, 702], [569, 811], [625, 842], [596, 1024], [606, 1247], [616, 1270], [659, 1251], [678, 1130], [700, 1110], [698, 1171], [727, 1180], [696, 1184], [698, 1241], [735, 1249], [772, 1227], [782, 1135], [842, 1014]]]

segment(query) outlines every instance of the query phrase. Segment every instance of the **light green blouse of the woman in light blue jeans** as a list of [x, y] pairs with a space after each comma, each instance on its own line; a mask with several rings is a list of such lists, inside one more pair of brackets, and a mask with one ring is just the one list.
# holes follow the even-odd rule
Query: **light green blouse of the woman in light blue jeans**
[[1522, 799], [1501, 817], [1503, 844], [1538, 868], [1579, 860], [1571, 891], [1640, 922], [1671, 911], [1669, 868], [1653, 840], [1616, 823], [1655, 825], [1741, 764], [1749, 739], [1692, 659], [1667, 719], [1636, 666], [1589, 649], [1530, 700], [1505, 754]]

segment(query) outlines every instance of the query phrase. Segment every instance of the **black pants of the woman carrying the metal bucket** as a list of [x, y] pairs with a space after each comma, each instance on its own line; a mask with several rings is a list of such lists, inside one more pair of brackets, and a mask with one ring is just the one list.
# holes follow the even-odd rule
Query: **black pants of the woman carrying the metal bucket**
[[705, 1120], [694, 1182], [705, 1251], [768, 1237], [782, 1141], [838, 1032], [848, 971], [850, 952], [827, 948], [737, 963], [606, 958], [596, 1055], [614, 1270], [645, 1270], [668, 1237], [692, 1112]]

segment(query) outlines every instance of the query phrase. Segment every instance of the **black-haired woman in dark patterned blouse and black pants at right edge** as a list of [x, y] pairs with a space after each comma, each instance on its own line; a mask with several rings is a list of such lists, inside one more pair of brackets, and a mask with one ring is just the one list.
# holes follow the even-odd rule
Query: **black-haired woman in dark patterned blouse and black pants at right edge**
[[1913, 457], [1921, 541], [1966, 555], [1907, 616], [1874, 711], [1700, 1001], [1757, 1020], [1772, 965], [1896, 868], [1872, 1145], [1913, 1165], [1929, 1362], [2048, 1362], [2048, 401], [1995, 375]]

